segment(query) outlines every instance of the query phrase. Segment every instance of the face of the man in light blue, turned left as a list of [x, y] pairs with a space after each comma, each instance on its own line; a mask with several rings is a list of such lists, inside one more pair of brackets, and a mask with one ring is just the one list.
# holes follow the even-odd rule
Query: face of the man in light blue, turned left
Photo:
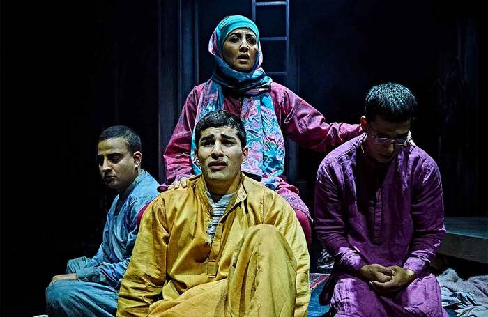
[[103, 182], [117, 192], [123, 192], [137, 177], [142, 154], [130, 154], [127, 141], [121, 137], [98, 143], [98, 169]]

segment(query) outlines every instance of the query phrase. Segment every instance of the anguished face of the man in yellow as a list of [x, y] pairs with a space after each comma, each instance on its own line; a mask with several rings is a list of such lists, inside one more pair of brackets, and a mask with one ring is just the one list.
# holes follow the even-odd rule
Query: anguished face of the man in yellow
[[201, 132], [196, 150], [197, 164], [207, 184], [230, 183], [241, 175], [241, 164], [247, 157], [247, 147], [234, 127], [209, 127]]

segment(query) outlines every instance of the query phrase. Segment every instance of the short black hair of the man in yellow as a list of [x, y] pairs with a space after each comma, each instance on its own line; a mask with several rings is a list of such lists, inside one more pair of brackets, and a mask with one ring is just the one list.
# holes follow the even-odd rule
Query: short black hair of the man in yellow
[[234, 127], [237, 130], [237, 137], [241, 141], [241, 147], [246, 146], [246, 137], [243, 121], [238, 116], [225, 110], [215, 110], [206, 114], [198, 121], [195, 127], [195, 144], [198, 148], [201, 132], [209, 127]]

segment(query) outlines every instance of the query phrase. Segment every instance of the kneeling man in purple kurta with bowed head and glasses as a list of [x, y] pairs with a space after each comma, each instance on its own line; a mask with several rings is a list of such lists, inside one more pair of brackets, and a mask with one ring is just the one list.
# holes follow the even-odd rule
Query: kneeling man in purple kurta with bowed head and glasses
[[445, 235], [441, 176], [407, 137], [415, 105], [402, 85], [374, 86], [366, 134], [319, 167], [315, 229], [335, 256], [321, 303], [333, 316], [448, 316], [427, 272]]

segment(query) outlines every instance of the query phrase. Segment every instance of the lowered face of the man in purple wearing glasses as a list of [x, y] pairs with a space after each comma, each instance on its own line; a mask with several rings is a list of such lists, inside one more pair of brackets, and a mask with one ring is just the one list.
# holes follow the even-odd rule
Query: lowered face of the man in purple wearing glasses
[[[401, 147], [395, 146], [395, 139], [404, 139], [410, 131], [411, 120], [392, 123], [381, 116], [376, 116], [373, 121], [368, 121], [365, 116], [361, 118], [361, 127], [367, 133], [364, 141], [367, 154], [380, 163], [387, 163], [399, 153]], [[381, 139], [391, 139], [388, 142]]]

